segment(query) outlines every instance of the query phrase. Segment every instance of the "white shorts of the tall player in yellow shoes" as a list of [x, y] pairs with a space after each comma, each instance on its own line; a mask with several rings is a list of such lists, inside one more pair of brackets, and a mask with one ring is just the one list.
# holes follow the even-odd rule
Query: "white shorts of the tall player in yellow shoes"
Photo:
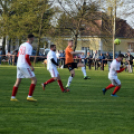
[[35, 77], [31, 68], [17, 67], [17, 78], [32, 78]]

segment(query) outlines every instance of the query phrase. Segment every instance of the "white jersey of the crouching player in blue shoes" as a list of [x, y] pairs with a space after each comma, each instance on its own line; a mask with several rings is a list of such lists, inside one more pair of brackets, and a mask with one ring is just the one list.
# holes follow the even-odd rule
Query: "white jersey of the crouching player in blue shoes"
[[108, 74], [108, 77], [110, 79], [117, 78], [117, 72], [116, 71], [120, 70], [120, 66], [121, 66], [121, 62], [114, 59], [113, 62], [111, 63], [110, 71], [109, 71], [109, 74]]

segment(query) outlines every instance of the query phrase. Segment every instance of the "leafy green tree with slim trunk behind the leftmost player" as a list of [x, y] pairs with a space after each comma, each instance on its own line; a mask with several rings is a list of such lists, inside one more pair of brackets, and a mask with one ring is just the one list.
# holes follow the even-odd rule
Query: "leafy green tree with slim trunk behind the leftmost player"
[[[21, 9], [21, 10], [20, 10]], [[33, 33], [38, 39], [37, 55], [41, 38], [47, 36], [51, 27], [53, 9], [47, 0], [17, 0], [11, 6], [14, 15], [10, 19], [11, 36], [23, 39]]]

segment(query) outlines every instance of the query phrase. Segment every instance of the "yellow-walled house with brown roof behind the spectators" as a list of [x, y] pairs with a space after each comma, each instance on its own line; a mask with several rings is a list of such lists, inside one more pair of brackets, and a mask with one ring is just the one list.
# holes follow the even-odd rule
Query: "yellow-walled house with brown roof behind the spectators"
[[[94, 16], [93, 16], [94, 17]], [[72, 21], [75, 29], [75, 23]], [[81, 30], [82, 29], [82, 30]], [[85, 29], [85, 30], [83, 30]], [[112, 19], [103, 12], [97, 12], [95, 24], [90, 22], [82, 22], [80, 34], [78, 36], [77, 50], [90, 49], [112, 52]], [[58, 49], [64, 49], [67, 46], [67, 40], [72, 38], [71, 34], [61, 35], [55, 44]], [[121, 40], [121, 44], [115, 46], [115, 50], [126, 52], [134, 52], [134, 29], [123, 19], [116, 18], [116, 38]]]

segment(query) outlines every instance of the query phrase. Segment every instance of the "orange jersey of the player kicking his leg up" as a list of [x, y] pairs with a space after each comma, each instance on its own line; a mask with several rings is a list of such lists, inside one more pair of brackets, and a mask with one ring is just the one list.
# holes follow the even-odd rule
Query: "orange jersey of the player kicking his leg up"
[[68, 46], [65, 50], [65, 64], [74, 62], [73, 55], [71, 54], [71, 52], [73, 52], [73, 49]]

